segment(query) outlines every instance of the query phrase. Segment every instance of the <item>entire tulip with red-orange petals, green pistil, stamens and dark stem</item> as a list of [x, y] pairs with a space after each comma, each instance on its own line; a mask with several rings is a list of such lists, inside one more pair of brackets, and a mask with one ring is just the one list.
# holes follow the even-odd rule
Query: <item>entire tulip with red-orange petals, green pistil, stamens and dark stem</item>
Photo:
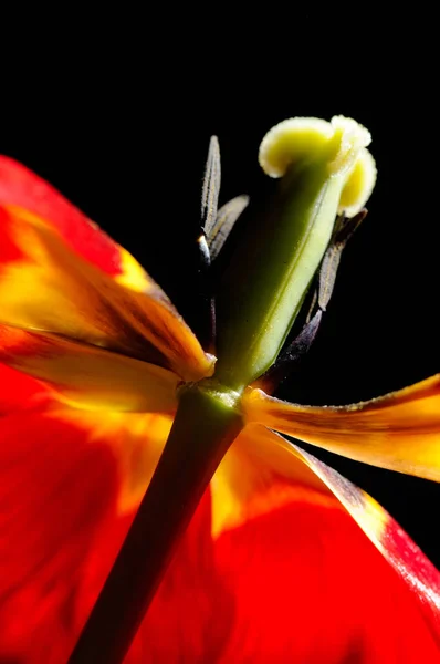
[[222, 267], [247, 199], [217, 210], [211, 142], [200, 341], [126, 250], [0, 159], [1, 664], [440, 661], [438, 571], [297, 444], [439, 481], [440, 377], [350, 406], [273, 396], [373, 190], [369, 141], [341, 116], [271, 129], [274, 200]]

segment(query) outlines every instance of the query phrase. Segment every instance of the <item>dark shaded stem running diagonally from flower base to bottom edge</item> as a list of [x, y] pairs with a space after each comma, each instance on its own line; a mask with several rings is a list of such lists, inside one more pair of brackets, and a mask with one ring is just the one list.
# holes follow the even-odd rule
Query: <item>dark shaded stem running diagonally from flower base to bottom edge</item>
[[242, 428], [233, 393], [187, 388], [148, 490], [69, 664], [121, 664], [209, 481]]

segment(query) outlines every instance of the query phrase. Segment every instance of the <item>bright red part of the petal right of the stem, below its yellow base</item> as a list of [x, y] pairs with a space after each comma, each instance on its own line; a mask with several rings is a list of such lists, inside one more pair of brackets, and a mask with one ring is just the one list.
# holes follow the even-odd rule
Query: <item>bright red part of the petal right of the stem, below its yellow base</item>
[[408, 588], [335, 500], [313, 494], [293, 490], [213, 542], [205, 502], [125, 664], [437, 662]]

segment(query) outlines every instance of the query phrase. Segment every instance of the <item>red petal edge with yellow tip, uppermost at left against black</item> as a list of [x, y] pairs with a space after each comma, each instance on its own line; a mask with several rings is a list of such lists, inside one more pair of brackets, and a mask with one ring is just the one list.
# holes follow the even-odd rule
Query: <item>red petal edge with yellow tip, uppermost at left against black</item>
[[45, 219], [72, 249], [126, 286], [142, 290], [151, 283], [139, 263], [96, 224], [38, 175], [4, 156], [0, 156], [0, 206], [20, 207]]

